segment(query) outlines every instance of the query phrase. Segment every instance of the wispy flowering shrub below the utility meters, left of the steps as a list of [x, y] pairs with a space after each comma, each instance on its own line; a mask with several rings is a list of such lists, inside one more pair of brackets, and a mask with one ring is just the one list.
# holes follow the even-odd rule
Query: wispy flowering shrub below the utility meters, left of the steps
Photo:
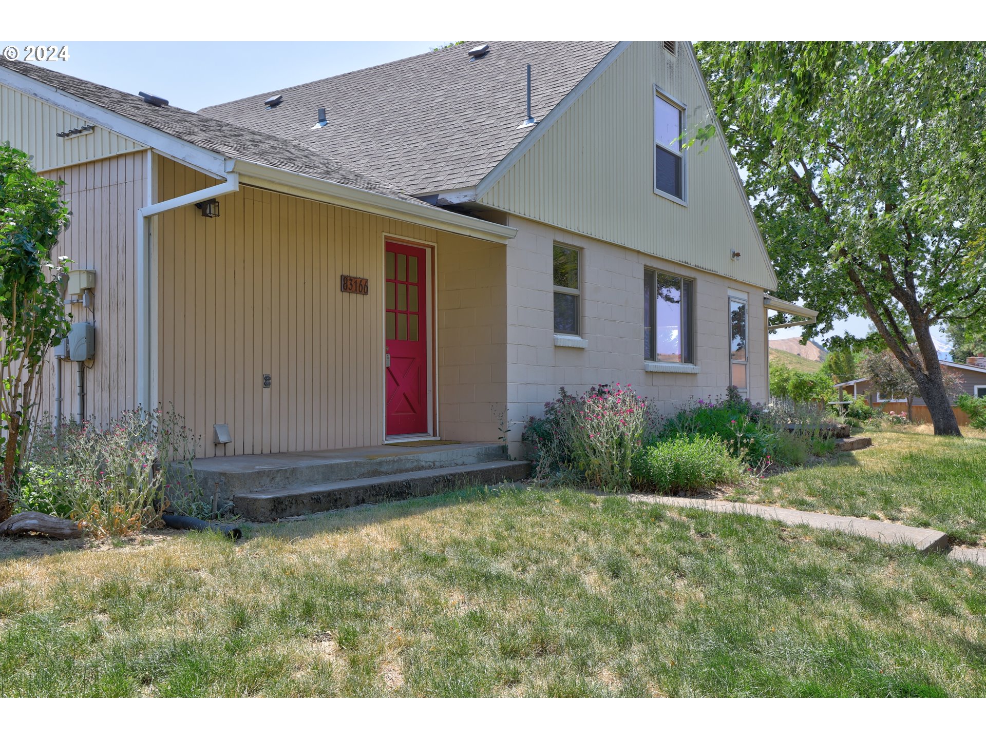
[[46, 420], [36, 432], [18, 507], [72, 518], [97, 537], [156, 525], [170, 503], [168, 491], [189, 487], [183, 467], [160, 465], [194, 451], [194, 438], [178, 419], [174, 411], [125, 411], [105, 427], [63, 423], [57, 436]]

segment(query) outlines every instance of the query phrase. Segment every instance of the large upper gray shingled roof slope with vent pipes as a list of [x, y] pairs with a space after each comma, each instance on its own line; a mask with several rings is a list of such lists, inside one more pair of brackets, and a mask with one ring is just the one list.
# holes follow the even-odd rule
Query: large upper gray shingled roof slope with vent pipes
[[[471, 61], [467, 50], [489, 43]], [[532, 130], [527, 65], [538, 120], [614, 41], [469, 41], [409, 59], [202, 108], [207, 115], [287, 136], [424, 194], [479, 182]], [[263, 104], [284, 96], [277, 107]], [[313, 130], [317, 109], [328, 125]]]

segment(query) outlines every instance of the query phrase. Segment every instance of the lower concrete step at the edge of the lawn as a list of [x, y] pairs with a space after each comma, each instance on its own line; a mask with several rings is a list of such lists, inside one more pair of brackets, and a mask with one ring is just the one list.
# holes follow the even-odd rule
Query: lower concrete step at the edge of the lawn
[[233, 504], [236, 512], [248, 520], [273, 521], [321, 510], [430, 496], [470, 485], [523, 480], [529, 474], [529, 462], [480, 462], [306, 487], [238, 493], [233, 496]]

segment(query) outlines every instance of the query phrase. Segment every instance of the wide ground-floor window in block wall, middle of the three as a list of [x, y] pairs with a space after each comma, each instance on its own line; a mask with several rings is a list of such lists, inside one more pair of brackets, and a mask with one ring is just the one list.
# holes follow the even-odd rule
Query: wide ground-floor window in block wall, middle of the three
[[644, 358], [650, 362], [693, 364], [691, 357], [691, 280], [644, 270]]

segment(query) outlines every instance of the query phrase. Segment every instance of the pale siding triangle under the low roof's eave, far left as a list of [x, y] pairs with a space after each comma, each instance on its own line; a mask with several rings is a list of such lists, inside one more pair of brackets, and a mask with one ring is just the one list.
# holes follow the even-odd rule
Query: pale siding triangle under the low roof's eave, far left
[[0, 85], [0, 141], [34, 156], [38, 171], [105, 159], [146, 147], [102, 126], [71, 138], [57, 134], [88, 125], [89, 121], [47, 102]]

